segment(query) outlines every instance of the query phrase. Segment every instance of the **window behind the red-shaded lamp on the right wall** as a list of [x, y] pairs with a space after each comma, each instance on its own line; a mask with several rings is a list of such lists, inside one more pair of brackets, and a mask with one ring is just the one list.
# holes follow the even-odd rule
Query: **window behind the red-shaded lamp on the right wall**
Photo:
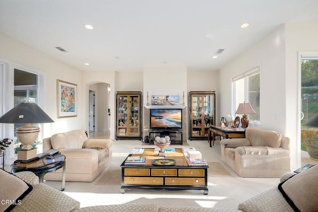
[[240, 103], [249, 103], [255, 110], [255, 114], [248, 114], [249, 124], [260, 126], [260, 69], [259, 66], [244, 72], [232, 79], [233, 88], [233, 110]]

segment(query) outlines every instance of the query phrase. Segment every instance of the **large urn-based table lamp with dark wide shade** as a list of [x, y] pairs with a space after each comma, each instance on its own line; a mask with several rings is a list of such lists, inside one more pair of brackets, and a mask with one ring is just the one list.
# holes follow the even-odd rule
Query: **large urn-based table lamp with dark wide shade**
[[31, 144], [39, 135], [40, 127], [34, 126], [31, 123], [51, 123], [54, 122], [37, 104], [20, 103], [13, 107], [0, 117], [0, 123], [25, 123], [21, 127], [17, 127], [16, 137], [24, 144], [21, 150], [18, 150], [18, 160], [28, 161], [36, 157], [36, 148]]

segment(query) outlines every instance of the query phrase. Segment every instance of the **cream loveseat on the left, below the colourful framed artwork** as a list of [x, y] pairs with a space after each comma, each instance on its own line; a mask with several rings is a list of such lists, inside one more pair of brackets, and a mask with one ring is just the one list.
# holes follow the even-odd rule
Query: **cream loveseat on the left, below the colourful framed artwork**
[[[112, 140], [87, 139], [84, 130], [73, 130], [43, 139], [43, 152], [59, 150], [66, 156], [66, 181], [92, 182], [112, 159]], [[62, 169], [44, 180], [62, 180]]]

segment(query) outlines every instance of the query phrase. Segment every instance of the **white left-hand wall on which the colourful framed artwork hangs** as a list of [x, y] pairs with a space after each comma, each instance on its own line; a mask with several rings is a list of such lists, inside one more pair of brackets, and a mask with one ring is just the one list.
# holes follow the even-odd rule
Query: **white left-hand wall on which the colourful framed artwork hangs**
[[[30, 71], [39, 75], [39, 106], [55, 121], [41, 126], [40, 137], [49, 137], [56, 132], [65, 132], [82, 128], [83, 94], [80, 71], [68, 66], [30, 46], [0, 33], [0, 62], [4, 62], [5, 70], [5, 96], [1, 100], [3, 112], [13, 107], [13, 73], [14, 68]], [[57, 118], [57, 79], [78, 85], [78, 116]], [[0, 137], [13, 138], [13, 124], [1, 124], [3, 131]], [[41, 124], [42, 125], [42, 124]], [[13, 161], [13, 147], [10, 148], [7, 160]]]

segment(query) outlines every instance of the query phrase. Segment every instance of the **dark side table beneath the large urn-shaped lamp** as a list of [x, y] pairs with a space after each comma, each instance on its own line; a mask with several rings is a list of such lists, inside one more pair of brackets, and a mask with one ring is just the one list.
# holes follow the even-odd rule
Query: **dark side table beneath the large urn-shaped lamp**
[[[56, 157], [59, 157], [60, 155], [55, 155]], [[64, 156], [64, 155], [61, 155]], [[66, 158], [64, 156], [64, 158]], [[55, 172], [56, 170], [63, 168], [63, 174], [62, 174], [62, 188], [61, 191], [64, 191], [65, 189], [65, 159], [64, 161], [59, 161], [55, 163], [45, 164], [43, 162], [43, 158], [37, 159], [35, 161], [29, 162], [29, 163], [13, 163], [10, 165], [11, 173], [16, 172], [23, 172], [23, 171], [30, 171], [33, 172], [36, 176], [39, 177], [39, 182], [43, 183], [44, 175], [48, 172]]]

